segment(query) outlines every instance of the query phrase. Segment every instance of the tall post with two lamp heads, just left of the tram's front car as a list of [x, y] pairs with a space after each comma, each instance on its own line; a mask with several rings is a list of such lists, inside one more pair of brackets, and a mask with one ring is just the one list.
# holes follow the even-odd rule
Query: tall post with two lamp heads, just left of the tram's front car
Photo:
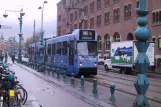
[[40, 64], [43, 64], [44, 63], [44, 45], [43, 45], [43, 36], [44, 36], [44, 31], [43, 31], [43, 15], [44, 15], [44, 4], [46, 4], [47, 1], [44, 1], [43, 2], [43, 6], [39, 6], [38, 9], [41, 9], [42, 10], [42, 14], [41, 14], [41, 37], [40, 37]]

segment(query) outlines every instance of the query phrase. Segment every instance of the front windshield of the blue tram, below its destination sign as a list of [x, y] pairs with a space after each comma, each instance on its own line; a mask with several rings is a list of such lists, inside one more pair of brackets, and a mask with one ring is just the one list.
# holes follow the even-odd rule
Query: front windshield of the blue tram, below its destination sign
[[78, 55], [97, 55], [97, 42], [78, 42]]

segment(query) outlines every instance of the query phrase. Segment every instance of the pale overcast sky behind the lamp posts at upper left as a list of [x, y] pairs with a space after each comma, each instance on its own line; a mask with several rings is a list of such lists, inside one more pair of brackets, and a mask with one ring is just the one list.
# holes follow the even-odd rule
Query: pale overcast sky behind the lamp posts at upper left
[[[36, 30], [38, 31], [41, 26], [41, 10], [38, 10], [39, 6], [42, 6], [44, 0], [0, 0], [0, 24], [5, 26], [12, 26], [12, 29], [0, 29], [0, 35], [3, 32], [4, 38], [15, 36], [18, 40], [19, 33], [19, 13], [7, 12], [8, 17], [4, 18], [3, 14], [5, 10], [20, 10], [20, 5], [23, 5], [26, 12], [23, 18], [23, 36], [24, 39], [32, 36], [33, 34], [33, 22], [36, 20]], [[57, 6], [56, 4], [60, 0], [47, 0], [44, 8], [44, 30], [46, 36], [54, 35], [56, 33], [56, 20], [57, 20]], [[47, 36], [47, 37], [48, 37]]]

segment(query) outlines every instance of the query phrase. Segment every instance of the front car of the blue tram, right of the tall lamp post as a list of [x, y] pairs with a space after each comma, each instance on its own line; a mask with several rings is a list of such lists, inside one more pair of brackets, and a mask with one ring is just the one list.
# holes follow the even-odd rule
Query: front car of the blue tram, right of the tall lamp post
[[74, 73], [97, 75], [97, 33], [95, 30], [76, 29], [72, 34], [46, 41], [47, 64]]

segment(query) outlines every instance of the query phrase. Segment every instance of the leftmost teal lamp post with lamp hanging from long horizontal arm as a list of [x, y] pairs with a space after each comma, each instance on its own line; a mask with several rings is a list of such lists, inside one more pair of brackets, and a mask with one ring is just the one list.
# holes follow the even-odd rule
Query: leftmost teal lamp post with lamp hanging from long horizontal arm
[[5, 10], [5, 14], [3, 14], [3, 17], [7, 18], [8, 14], [6, 12], [19, 12], [20, 17], [18, 18], [19, 23], [20, 23], [20, 33], [19, 35], [19, 53], [18, 53], [18, 63], [22, 62], [22, 56], [21, 56], [21, 39], [22, 39], [22, 17], [25, 15], [23, 12], [23, 8], [20, 11], [14, 11], [14, 10]]

